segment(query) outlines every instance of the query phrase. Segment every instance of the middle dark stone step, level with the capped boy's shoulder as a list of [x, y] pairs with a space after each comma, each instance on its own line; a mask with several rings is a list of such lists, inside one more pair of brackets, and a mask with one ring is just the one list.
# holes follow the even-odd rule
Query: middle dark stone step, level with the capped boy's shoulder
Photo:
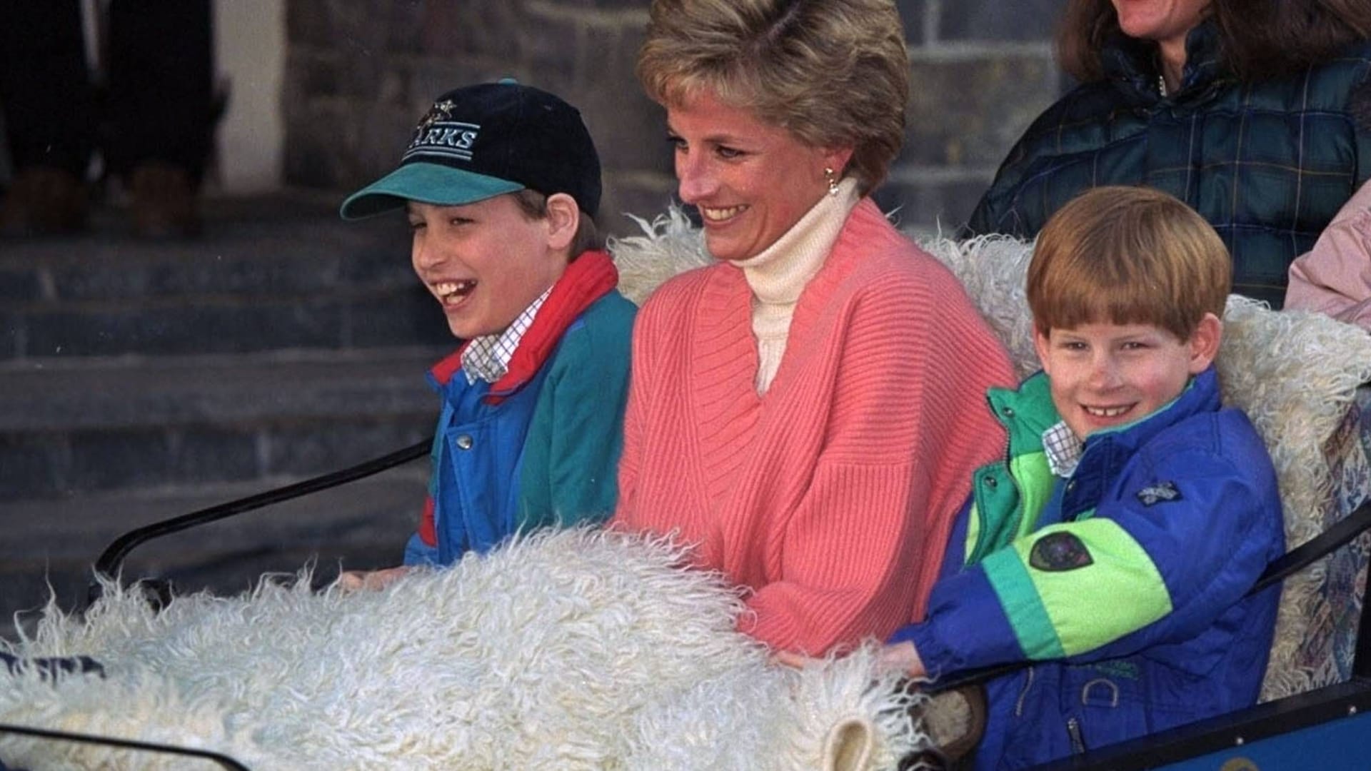
[[446, 348], [0, 365], [0, 501], [271, 483], [429, 435]]

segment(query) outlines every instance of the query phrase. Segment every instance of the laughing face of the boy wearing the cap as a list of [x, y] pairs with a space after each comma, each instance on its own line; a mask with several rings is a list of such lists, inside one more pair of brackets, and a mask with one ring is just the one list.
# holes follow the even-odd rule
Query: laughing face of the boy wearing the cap
[[548, 248], [547, 220], [529, 220], [513, 195], [406, 209], [414, 272], [463, 340], [503, 332], [566, 269]]

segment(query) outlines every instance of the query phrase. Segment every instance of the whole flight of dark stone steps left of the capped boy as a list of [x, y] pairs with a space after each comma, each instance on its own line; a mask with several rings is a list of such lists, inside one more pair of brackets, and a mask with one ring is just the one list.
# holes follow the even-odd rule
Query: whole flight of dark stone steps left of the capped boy
[[[402, 217], [341, 222], [340, 196], [206, 200], [206, 232], [0, 241], [0, 634], [134, 527], [410, 446], [425, 370], [454, 342], [414, 278]], [[136, 550], [129, 576], [241, 591], [318, 561], [396, 564], [422, 461]], [[32, 621], [32, 615], [26, 616]]]

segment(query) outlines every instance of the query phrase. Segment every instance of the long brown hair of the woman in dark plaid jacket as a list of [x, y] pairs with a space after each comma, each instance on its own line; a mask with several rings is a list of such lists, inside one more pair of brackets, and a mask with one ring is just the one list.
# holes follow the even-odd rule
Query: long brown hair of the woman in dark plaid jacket
[[[1227, 70], [1245, 82], [1302, 70], [1371, 38], [1367, 0], [1213, 0]], [[1100, 52], [1119, 29], [1109, 0], [1067, 0], [1057, 27], [1057, 62], [1079, 81], [1104, 77]]]

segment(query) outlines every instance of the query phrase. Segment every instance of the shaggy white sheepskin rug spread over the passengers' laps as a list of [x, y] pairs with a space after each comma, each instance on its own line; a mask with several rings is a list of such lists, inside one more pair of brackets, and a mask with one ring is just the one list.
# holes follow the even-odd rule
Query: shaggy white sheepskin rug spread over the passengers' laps
[[[871, 649], [803, 671], [733, 631], [718, 576], [661, 539], [543, 532], [381, 591], [308, 576], [175, 598], [110, 586], [49, 608], [21, 656], [93, 653], [104, 676], [0, 687], [0, 723], [211, 749], [250, 768], [893, 770], [927, 746]], [[34, 771], [211, 768], [0, 735]], [[196, 763], [200, 763], [196, 766]]]

